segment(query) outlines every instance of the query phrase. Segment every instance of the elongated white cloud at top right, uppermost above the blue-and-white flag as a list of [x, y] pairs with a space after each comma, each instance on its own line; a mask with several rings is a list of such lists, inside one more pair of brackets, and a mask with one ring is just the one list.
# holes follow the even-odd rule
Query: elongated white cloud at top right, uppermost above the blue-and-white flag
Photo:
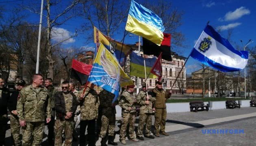
[[251, 12], [244, 6], [237, 8], [235, 11], [229, 11], [223, 18], [219, 18], [219, 21], [231, 21], [241, 18], [243, 15], [249, 15]]

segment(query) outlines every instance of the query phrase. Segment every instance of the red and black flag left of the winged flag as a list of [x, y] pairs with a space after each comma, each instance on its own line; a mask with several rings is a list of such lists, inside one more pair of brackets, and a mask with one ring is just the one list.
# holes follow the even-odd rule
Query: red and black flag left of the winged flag
[[92, 65], [84, 64], [80, 61], [73, 59], [71, 66], [71, 77], [77, 79], [81, 83], [81, 85], [84, 85], [90, 75], [91, 68]]

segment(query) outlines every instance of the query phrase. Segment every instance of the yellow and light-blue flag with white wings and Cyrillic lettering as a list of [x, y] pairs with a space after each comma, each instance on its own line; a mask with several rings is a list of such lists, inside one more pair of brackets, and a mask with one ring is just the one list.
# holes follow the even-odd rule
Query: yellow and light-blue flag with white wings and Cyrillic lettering
[[88, 82], [115, 94], [113, 102], [118, 97], [120, 87], [134, 84], [132, 79], [124, 72], [115, 56], [102, 44], [94, 60]]

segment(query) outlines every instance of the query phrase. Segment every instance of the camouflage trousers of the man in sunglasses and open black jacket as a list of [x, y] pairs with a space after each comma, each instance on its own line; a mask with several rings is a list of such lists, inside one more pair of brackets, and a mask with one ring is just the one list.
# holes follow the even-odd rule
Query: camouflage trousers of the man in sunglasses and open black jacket
[[55, 142], [54, 146], [62, 146], [62, 131], [65, 131], [65, 144], [64, 146], [72, 146], [72, 133], [73, 133], [74, 120], [56, 120], [55, 129]]

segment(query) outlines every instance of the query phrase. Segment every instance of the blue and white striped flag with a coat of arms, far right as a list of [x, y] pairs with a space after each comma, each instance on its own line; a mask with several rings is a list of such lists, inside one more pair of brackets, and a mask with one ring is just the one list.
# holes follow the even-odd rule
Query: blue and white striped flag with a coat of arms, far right
[[207, 25], [191, 52], [191, 57], [219, 71], [231, 72], [245, 68], [247, 51], [238, 51], [227, 39]]

